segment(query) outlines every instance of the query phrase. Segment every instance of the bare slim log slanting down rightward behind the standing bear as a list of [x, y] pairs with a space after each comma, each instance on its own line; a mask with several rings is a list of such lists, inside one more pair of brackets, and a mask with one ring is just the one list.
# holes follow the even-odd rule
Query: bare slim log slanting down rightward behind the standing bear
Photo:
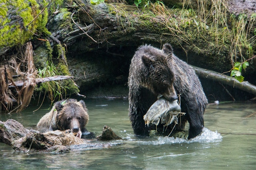
[[[191, 65], [190, 65], [191, 66]], [[199, 77], [214, 80], [217, 82], [221, 82], [223, 84], [226, 84], [228, 86], [232, 86], [234, 88], [238, 88], [240, 90], [243, 90], [245, 92], [251, 93], [256, 95], [256, 86], [253, 84], [250, 84], [249, 82], [239, 82], [233, 77], [226, 76], [224, 74], [220, 74], [218, 72], [214, 72], [212, 70], [207, 70], [203, 68], [199, 68], [196, 66], [192, 66], [192, 68], [195, 70], [196, 74], [198, 74]]]

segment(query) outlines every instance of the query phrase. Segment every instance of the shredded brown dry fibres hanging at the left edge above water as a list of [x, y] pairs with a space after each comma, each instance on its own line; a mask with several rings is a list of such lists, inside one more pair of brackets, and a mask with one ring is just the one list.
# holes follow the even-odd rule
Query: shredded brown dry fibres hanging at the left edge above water
[[[25, 45], [26, 49], [20, 50], [20, 53], [10, 57], [10, 60], [4, 60], [0, 66], [0, 111], [10, 111], [13, 102], [18, 106], [12, 111], [20, 112], [30, 103], [31, 96], [35, 87], [35, 76], [37, 75], [33, 62], [33, 49], [31, 42]], [[18, 88], [14, 83], [12, 76], [18, 75], [18, 80], [24, 81], [22, 88]], [[9, 85], [15, 86], [13, 89]]]

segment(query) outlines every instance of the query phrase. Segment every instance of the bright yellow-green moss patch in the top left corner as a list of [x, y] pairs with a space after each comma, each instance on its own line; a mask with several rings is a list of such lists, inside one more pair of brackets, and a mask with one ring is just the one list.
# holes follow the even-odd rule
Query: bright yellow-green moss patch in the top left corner
[[[15, 6], [16, 11], [9, 8]], [[36, 0], [4, 0], [0, 6], [2, 18], [0, 20], [0, 48], [25, 44], [34, 34], [46, 32], [47, 10], [40, 13]], [[20, 16], [21, 19], [8, 19], [10, 15]], [[36, 16], [38, 16], [36, 18]], [[34, 20], [34, 18], [36, 18]], [[32, 22], [32, 20], [34, 20]], [[31, 23], [30, 23], [31, 22]]]

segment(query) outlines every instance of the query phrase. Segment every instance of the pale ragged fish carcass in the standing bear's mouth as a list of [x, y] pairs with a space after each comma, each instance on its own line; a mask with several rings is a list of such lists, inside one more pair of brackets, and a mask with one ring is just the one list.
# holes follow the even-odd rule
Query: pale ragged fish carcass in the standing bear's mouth
[[150, 123], [156, 126], [160, 123], [164, 126], [168, 126], [175, 122], [178, 124], [178, 116], [184, 115], [186, 113], [180, 112], [181, 108], [178, 104], [178, 100], [170, 102], [164, 97], [160, 97], [156, 102], [154, 102], [146, 114], [143, 116], [145, 124], [149, 126]]

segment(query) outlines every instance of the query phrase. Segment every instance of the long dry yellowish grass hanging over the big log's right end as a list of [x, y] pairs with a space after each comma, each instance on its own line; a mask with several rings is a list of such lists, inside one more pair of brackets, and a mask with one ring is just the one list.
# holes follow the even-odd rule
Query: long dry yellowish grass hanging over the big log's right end
[[[194, 35], [186, 29], [187, 26], [197, 27], [200, 35], [198, 38], [206, 40], [220, 50], [222, 46], [230, 48], [230, 60], [233, 66], [239, 58], [239, 62], [242, 63], [254, 56], [252, 46], [255, 44], [255, 36], [252, 36], [250, 31], [255, 26], [256, 14], [252, 14], [250, 18], [244, 14], [230, 15], [227, 0], [184, 0], [182, 10], [170, 10], [158, 2], [151, 3], [150, 9], [160, 18], [158, 22], [166, 26], [170, 35], [179, 43], [194, 45], [200, 51], [200, 48], [193, 44]], [[215, 42], [207, 40], [202, 34], [204, 30], [214, 33]], [[185, 49], [184, 51], [186, 52]]]

